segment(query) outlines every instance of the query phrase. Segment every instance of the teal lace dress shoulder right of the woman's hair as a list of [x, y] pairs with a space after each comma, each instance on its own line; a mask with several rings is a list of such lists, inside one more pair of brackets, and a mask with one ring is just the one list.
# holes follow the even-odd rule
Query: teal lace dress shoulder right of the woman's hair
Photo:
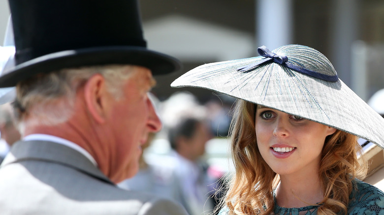
[[360, 180], [354, 186], [348, 205], [349, 215], [384, 215], [384, 192]]

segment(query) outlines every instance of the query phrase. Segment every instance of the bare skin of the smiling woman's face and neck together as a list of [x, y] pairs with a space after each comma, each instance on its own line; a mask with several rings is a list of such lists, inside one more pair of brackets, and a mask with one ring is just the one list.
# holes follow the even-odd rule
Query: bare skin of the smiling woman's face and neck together
[[303, 207], [307, 205], [303, 201], [319, 202], [321, 150], [325, 137], [336, 129], [263, 106], [256, 108], [255, 129], [262, 158], [281, 178], [278, 205]]

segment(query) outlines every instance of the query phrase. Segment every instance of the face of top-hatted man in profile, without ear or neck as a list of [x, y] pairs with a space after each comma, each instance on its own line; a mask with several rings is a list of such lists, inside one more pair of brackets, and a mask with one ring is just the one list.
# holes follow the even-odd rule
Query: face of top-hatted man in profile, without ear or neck
[[141, 145], [149, 133], [161, 129], [160, 119], [147, 94], [155, 84], [152, 73], [140, 66], [135, 66], [134, 70], [124, 84], [123, 98], [114, 101], [109, 116], [115, 143], [112, 145], [111, 179], [115, 183], [137, 173]]

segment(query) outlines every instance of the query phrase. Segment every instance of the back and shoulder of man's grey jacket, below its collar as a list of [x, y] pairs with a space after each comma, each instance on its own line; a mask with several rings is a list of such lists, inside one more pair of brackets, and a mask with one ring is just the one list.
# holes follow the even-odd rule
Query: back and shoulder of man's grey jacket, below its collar
[[[33, 162], [33, 168], [29, 166]], [[2, 214], [29, 209], [35, 214], [185, 215], [178, 203], [124, 190], [78, 169], [58, 163], [26, 161], [0, 169]], [[55, 172], [53, 170], [56, 170]], [[6, 184], [6, 186], [5, 186]], [[19, 192], [18, 190], [23, 190]], [[14, 204], [17, 199], [18, 204]], [[9, 213], [7, 213], [7, 210]], [[76, 212], [76, 213], [74, 213]], [[32, 213], [32, 214], [33, 214]]]

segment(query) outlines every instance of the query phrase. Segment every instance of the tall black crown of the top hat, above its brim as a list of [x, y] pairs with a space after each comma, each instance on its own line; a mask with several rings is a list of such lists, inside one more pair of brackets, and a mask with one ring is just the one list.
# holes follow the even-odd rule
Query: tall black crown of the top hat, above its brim
[[16, 64], [102, 46], [146, 47], [136, 0], [9, 0]]

